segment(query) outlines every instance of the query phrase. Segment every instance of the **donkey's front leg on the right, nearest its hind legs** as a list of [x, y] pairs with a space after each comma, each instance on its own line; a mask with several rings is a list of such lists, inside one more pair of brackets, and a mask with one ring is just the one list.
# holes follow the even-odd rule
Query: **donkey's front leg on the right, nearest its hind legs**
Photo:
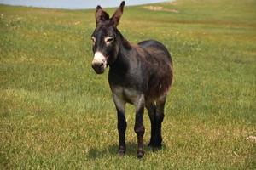
[[143, 150], [143, 134], [145, 133], [145, 127], [143, 125], [145, 98], [144, 95], [140, 95], [136, 103], [136, 119], [134, 131], [137, 133], [137, 157], [142, 158], [144, 156]]

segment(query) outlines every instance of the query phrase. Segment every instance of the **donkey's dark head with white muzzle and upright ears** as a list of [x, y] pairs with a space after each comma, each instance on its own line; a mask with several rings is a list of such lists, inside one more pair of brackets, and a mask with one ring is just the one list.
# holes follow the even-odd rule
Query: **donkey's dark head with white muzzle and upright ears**
[[117, 26], [123, 14], [123, 1], [113, 16], [109, 18], [101, 6], [96, 7], [96, 29], [91, 36], [94, 58], [92, 68], [97, 74], [102, 74], [107, 65], [111, 65], [119, 53], [119, 31]]

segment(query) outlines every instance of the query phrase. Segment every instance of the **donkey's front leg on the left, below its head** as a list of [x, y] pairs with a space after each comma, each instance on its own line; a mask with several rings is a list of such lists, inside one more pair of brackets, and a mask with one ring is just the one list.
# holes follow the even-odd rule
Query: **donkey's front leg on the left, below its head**
[[119, 99], [118, 96], [113, 94], [114, 105], [117, 110], [118, 116], [118, 131], [119, 131], [119, 156], [125, 155], [125, 130], [127, 127], [125, 119], [125, 102], [122, 99]]

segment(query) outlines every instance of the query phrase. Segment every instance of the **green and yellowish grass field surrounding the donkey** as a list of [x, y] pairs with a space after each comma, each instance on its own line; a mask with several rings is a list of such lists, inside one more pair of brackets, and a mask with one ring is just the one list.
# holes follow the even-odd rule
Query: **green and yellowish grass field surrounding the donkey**
[[[255, 169], [255, 7], [177, 0], [125, 8], [119, 30], [132, 43], [163, 42], [175, 71], [164, 147], [146, 146], [137, 160], [134, 108], [119, 157], [108, 74], [90, 66], [94, 10], [0, 5], [0, 169]], [[145, 127], [148, 144], [147, 113]]]

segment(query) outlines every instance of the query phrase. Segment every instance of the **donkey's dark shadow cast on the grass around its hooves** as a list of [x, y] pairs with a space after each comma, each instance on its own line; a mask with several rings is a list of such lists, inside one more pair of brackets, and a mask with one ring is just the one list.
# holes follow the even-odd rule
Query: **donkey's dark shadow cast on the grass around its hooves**
[[[88, 157], [90, 159], [102, 158], [104, 156], [119, 156], [118, 155], [118, 144], [108, 145], [105, 149], [90, 148], [88, 152]], [[152, 148], [148, 144], [144, 145], [145, 154], [148, 152], [157, 153], [160, 150], [166, 150], [166, 145], [163, 144], [162, 148]], [[125, 156], [137, 156], [137, 143], [126, 143]]]

